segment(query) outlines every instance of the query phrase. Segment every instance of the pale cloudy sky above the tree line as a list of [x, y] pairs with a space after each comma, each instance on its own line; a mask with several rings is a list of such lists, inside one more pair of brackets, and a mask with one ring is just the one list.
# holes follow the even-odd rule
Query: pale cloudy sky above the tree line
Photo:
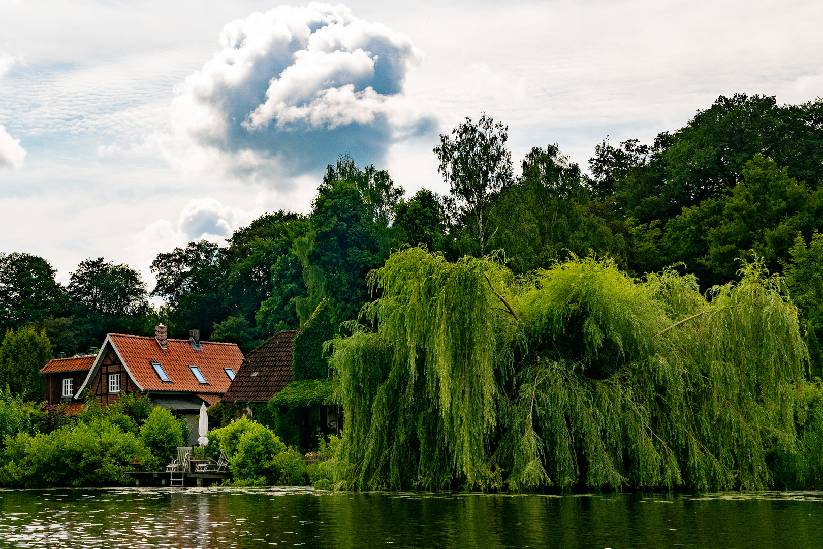
[[821, 23], [792, 0], [0, 0], [0, 252], [151, 288], [158, 253], [308, 212], [346, 152], [448, 193], [432, 148], [484, 112], [515, 166], [557, 143], [586, 169], [718, 95], [816, 100]]

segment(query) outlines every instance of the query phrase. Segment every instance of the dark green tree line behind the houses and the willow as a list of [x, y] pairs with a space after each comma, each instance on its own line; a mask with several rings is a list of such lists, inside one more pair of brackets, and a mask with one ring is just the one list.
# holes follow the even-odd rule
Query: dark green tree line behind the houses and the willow
[[811, 372], [823, 375], [821, 100], [721, 96], [651, 144], [603, 141], [588, 174], [557, 145], [532, 148], [515, 170], [507, 138], [485, 114], [442, 135], [433, 152], [449, 184], [443, 196], [422, 188], [407, 197], [385, 170], [340, 156], [308, 213], [267, 213], [226, 245], [158, 254], [151, 292], [132, 268], [104, 258], [86, 259], [63, 286], [45, 258], [0, 254], [0, 327], [44, 331], [53, 354], [97, 347], [109, 332], [151, 335], [158, 322], [174, 337], [198, 328], [249, 351], [299, 328], [326, 297], [336, 326], [357, 319], [379, 296], [367, 274], [404, 245], [452, 263], [494, 253], [515, 276], [571, 254], [611, 258], [631, 277], [675, 265], [703, 292], [739, 280], [738, 259], [757, 254], [786, 277]]

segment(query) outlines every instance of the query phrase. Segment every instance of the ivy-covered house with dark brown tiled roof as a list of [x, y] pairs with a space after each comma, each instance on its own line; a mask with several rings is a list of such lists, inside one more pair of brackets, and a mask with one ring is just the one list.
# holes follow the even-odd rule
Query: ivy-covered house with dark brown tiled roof
[[[310, 324], [306, 326], [302, 336], [311, 335]], [[306, 379], [301, 365], [296, 364], [299, 333], [282, 330], [249, 351], [221, 402], [245, 407], [255, 419], [272, 427], [283, 442], [305, 452], [317, 447], [318, 435], [339, 434], [342, 410], [327, 403], [331, 379]], [[314, 339], [317, 342], [312, 351], [321, 356], [322, 338]]]

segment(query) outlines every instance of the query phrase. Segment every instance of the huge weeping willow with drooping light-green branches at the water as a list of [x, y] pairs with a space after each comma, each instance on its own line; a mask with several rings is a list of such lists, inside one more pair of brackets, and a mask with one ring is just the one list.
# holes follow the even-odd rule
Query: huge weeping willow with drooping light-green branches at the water
[[797, 452], [807, 351], [759, 260], [710, 300], [596, 258], [515, 279], [404, 249], [369, 282], [377, 328], [331, 343], [337, 486], [754, 489]]

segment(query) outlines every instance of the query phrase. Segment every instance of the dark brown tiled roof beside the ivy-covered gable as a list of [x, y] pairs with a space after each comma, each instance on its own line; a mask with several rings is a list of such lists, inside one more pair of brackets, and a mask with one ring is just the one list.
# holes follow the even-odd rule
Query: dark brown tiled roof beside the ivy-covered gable
[[297, 332], [299, 330], [282, 330], [250, 351], [221, 400], [268, 402], [274, 393], [290, 384], [291, 346]]

